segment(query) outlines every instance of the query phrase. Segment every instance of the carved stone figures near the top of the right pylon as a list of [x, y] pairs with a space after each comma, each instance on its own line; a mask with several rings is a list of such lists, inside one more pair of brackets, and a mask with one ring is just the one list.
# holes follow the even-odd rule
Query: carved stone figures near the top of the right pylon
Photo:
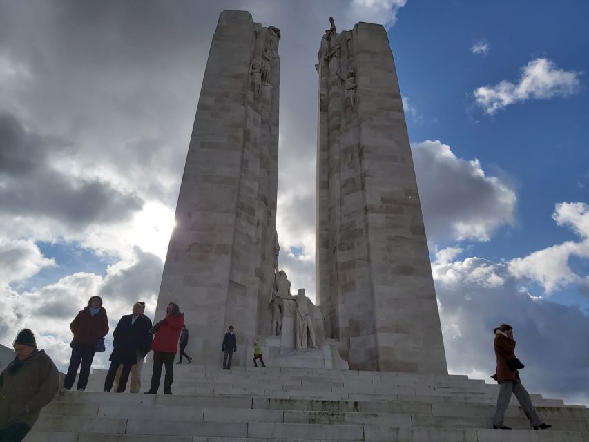
[[[325, 30], [321, 38], [321, 47], [319, 49], [319, 64], [325, 64], [329, 68], [329, 75], [336, 75], [345, 85], [345, 103], [349, 108], [354, 108], [356, 104], [356, 74], [354, 68], [349, 66], [347, 77], [342, 77], [341, 73], [341, 39], [342, 36], [336, 32], [336, 23], [334, 17], [329, 17], [331, 28]], [[347, 52], [351, 54], [351, 32], [345, 32]]]

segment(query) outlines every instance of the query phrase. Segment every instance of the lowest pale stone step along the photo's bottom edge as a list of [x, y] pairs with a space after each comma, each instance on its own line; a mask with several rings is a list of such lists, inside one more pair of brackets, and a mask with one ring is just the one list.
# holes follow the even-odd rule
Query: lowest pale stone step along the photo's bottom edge
[[[42, 416], [31, 439], [37, 432], [59, 431], [93, 433], [107, 441], [105, 435], [198, 436], [251, 439], [320, 439], [325, 441], [559, 441], [583, 442], [581, 432], [548, 430], [487, 430], [452, 427], [398, 427], [390, 425], [339, 425], [268, 422], [154, 421], [146, 419], [93, 419], [83, 417]], [[505, 434], [504, 434], [505, 432]], [[517, 438], [514, 436], [518, 436]], [[505, 439], [505, 438], [510, 439]], [[110, 438], [113, 440], [113, 438]], [[47, 439], [44, 439], [47, 440]], [[86, 440], [92, 440], [86, 438]], [[96, 439], [95, 439], [96, 440]], [[125, 440], [117, 438], [114, 440]], [[142, 439], [145, 440], [145, 439]]]

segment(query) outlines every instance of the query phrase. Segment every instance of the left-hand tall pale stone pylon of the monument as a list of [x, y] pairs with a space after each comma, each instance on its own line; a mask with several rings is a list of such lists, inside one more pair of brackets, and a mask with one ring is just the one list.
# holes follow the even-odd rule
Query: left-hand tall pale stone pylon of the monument
[[160, 320], [169, 302], [180, 305], [186, 352], [201, 364], [220, 363], [229, 325], [237, 364], [256, 334], [270, 334], [279, 40], [278, 28], [226, 10], [204, 71], [155, 312]]

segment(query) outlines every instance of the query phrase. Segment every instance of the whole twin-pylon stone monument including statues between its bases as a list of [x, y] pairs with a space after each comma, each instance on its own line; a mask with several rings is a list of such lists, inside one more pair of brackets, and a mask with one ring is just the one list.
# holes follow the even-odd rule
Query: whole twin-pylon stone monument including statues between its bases
[[280, 30], [222, 12], [206, 64], [156, 317], [177, 302], [187, 351], [234, 364], [447, 373], [405, 115], [383, 26], [318, 38], [318, 306], [280, 271]]

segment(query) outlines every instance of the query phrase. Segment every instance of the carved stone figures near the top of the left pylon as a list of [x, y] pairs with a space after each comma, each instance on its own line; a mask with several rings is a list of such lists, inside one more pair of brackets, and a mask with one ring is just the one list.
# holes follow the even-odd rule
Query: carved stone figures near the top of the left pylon
[[[253, 97], [260, 96], [260, 86], [270, 83], [270, 70], [273, 60], [278, 58], [278, 41], [280, 41], [280, 29], [269, 26], [265, 39], [260, 37], [262, 30], [254, 31], [253, 55], [249, 61], [249, 90]], [[263, 41], [263, 48], [260, 41]]]

